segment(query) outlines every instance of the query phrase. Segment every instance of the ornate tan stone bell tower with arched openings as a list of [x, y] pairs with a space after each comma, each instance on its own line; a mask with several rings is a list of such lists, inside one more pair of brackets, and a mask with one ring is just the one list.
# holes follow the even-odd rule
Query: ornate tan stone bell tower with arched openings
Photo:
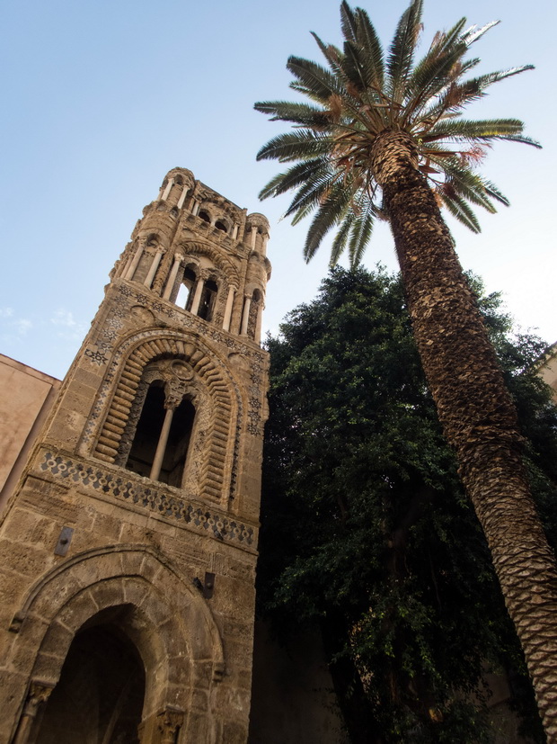
[[0, 517], [0, 742], [245, 742], [269, 223], [175, 168]]

